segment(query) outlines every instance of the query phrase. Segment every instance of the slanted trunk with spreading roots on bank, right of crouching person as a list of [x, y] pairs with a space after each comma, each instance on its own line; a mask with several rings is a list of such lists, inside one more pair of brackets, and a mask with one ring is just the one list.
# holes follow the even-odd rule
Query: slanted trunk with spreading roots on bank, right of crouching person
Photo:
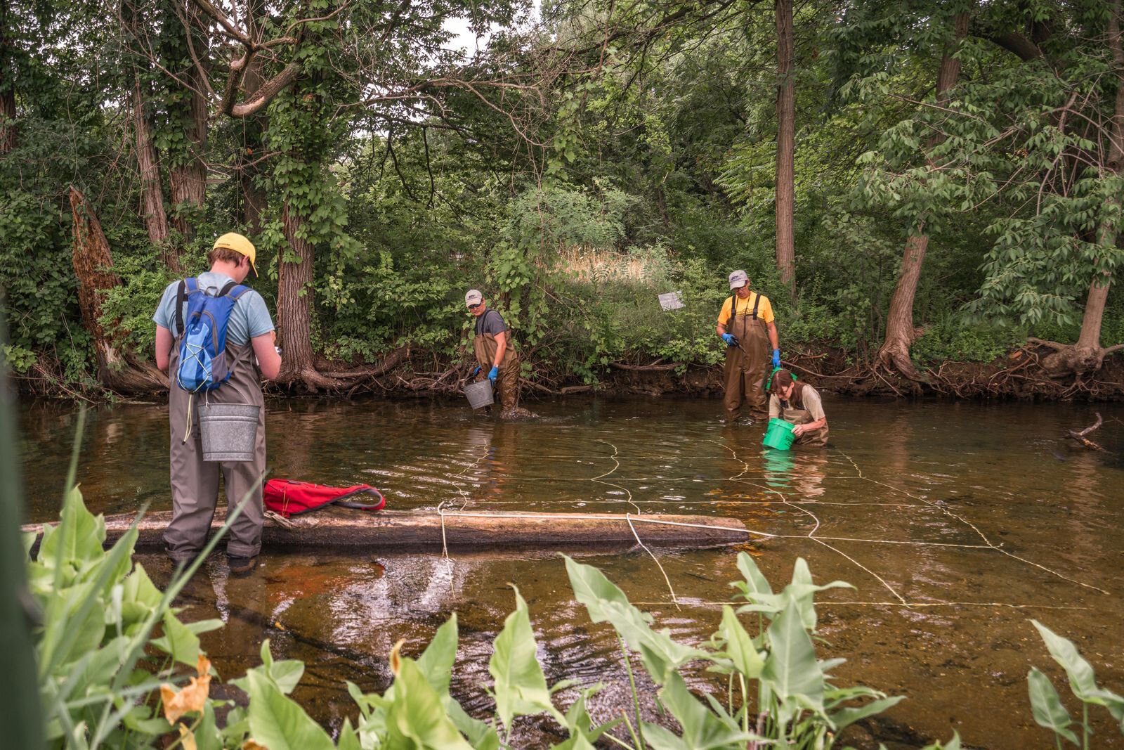
[[[945, 47], [941, 56], [941, 69], [936, 75], [936, 100], [945, 102], [949, 100], [949, 90], [957, 84], [960, 75], [960, 60], [953, 56], [955, 46], [968, 35], [968, 13], [957, 13], [954, 20], [953, 43]], [[928, 148], [935, 146], [940, 141], [933, 138], [928, 142]], [[930, 168], [935, 169], [935, 164], [930, 162]], [[928, 250], [928, 235], [924, 233], [924, 223], [906, 240], [905, 253], [901, 256], [901, 272], [898, 274], [898, 283], [894, 288], [894, 297], [890, 298], [890, 311], [886, 318], [886, 336], [882, 346], [878, 350], [878, 359], [887, 368], [895, 369], [910, 380], [926, 382], [927, 379], [917, 372], [909, 358], [909, 346], [917, 338], [918, 332], [913, 324], [913, 304], [917, 293], [917, 282], [921, 279], [921, 269], [925, 263], [925, 252]]]

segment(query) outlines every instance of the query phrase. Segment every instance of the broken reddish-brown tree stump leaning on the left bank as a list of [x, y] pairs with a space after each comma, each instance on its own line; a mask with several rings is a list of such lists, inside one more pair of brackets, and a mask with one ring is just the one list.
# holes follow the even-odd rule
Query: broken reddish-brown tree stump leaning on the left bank
[[98, 360], [98, 380], [106, 388], [125, 394], [153, 392], [167, 389], [167, 377], [147, 362], [119, 351], [101, 325], [101, 297], [121, 280], [112, 272], [114, 256], [101, 223], [78, 188], [70, 189], [71, 215], [74, 219], [74, 274], [78, 277], [78, 301], [82, 324], [93, 340]]

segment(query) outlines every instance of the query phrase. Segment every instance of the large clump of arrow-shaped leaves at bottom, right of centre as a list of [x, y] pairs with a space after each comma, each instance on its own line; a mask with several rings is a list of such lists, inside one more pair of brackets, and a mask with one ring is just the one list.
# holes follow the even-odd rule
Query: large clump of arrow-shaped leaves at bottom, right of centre
[[[661, 726], [643, 724], [643, 737], [651, 747], [734, 748], [750, 741], [780, 741], [786, 747], [830, 748], [839, 730], [901, 699], [864, 687], [837, 688], [828, 681], [828, 670], [840, 662], [816, 659], [813, 597], [847, 584], [813, 584], [803, 559], [796, 562], [791, 582], [773, 594], [753, 558], [738, 554], [737, 567], [745, 580], [733, 586], [737, 596], [749, 602], [738, 612], [756, 613], [759, 632], [751, 635], [733, 607], [726, 606], [708, 648], [686, 647], [672, 640], [667, 630], [652, 630], [651, 617], [629, 604], [599, 570], [569, 557], [565, 562], [574, 596], [586, 605], [590, 620], [610, 623], [623, 644], [640, 654], [649, 676], [662, 686], [661, 704], [682, 728], [682, 735], [677, 737]], [[770, 621], [768, 627], [763, 620]], [[680, 668], [695, 660], [708, 662], [709, 671], [728, 676], [725, 702], [708, 695], [704, 704], [689, 693]], [[756, 694], [751, 703], [753, 685]], [[873, 699], [847, 705], [862, 698]], [[724, 708], [733, 707], [735, 699], [741, 703], [737, 711]]]

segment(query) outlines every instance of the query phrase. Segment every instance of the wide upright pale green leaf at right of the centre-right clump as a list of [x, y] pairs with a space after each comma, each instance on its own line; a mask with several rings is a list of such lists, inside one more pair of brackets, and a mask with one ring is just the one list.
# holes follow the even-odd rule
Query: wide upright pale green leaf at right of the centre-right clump
[[798, 697], [801, 705], [823, 713], [824, 674], [816, 662], [812, 638], [804, 629], [800, 609], [789, 602], [769, 625], [769, 657], [761, 679], [786, 702]]

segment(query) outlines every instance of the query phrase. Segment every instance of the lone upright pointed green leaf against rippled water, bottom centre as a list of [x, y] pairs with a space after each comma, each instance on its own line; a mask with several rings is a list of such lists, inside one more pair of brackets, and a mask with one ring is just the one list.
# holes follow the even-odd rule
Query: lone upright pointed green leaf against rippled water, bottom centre
[[496, 680], [496, 713], [509, 731], [515, 716], [544, 711], [560, 724], [564, 722], [562, 714], [551, 703], [551, 693], [546, 688], [546, 677], [538, 666], [536, 651], [527, 603], [516, 588], [515, 612], [504, 621], [504, 630], [496, 636], [495, 650], [488, 662], [488, 671]]

